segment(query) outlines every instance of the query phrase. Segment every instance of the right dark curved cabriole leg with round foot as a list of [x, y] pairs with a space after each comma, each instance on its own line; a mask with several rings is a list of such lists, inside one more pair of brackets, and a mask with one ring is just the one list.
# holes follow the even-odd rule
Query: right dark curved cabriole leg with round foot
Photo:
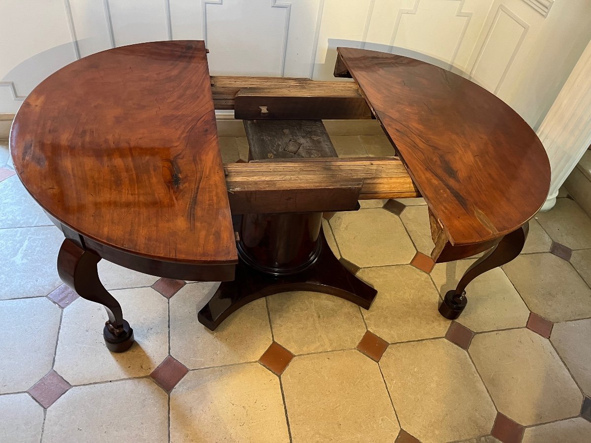
[[460, 317], [467, 304], [466, 286], [480, 274], [509, 263], [517, 257], [523, 249], [528, 231], [529, 223], [526, 222], [519, 229], [506, 234], [498, 245], [476, 260], [462, 276], [456, 289], [447, 291], [443, 302], [439, 305], [439, 313], [443, 317], [449, 318], [449, 320], [455, 320]]

